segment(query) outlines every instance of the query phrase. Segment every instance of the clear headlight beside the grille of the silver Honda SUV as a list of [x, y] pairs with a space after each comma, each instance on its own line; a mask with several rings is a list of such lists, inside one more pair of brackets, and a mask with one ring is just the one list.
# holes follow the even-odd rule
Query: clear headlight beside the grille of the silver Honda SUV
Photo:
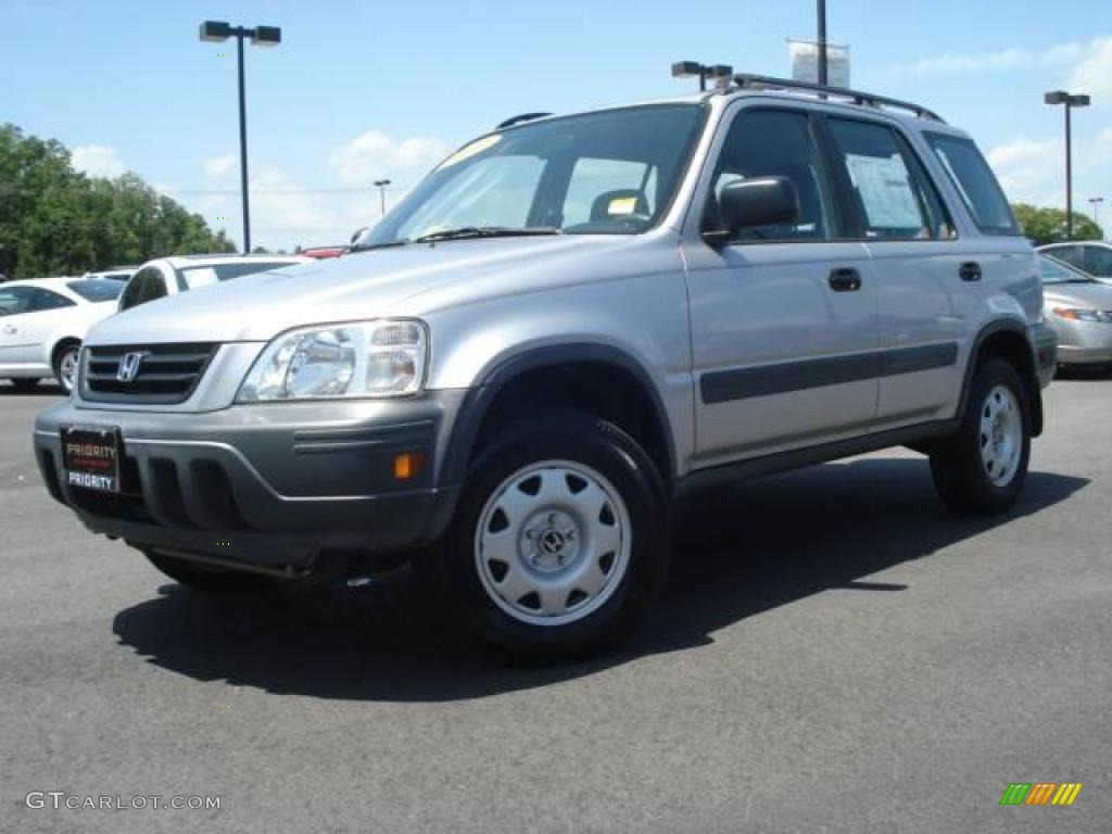
[[427, 356], [428, 334], [421, 321], [302, 327], [267, 345], [236, 401], [413, 394], [424, 381]]

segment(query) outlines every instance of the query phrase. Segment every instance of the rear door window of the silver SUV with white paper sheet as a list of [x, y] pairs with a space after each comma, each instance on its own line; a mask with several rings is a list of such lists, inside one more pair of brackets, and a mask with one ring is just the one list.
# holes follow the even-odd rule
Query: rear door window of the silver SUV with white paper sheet
[[860, 236], [903, 240], [953, 237], [934, 183], [892, 128], [842, 119], [831, 119], [830, 128], [852, 188]]

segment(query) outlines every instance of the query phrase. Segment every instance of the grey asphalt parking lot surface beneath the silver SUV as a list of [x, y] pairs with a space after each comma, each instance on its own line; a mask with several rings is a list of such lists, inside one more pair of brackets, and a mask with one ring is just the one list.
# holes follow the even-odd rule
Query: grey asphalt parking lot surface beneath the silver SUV
[[[704, 496], [622, 654], [519, 668], [403, 573], [218, 600], [85, 532], [0, 384], [0, 831], [1108, 832], [1112, 375], [1020, 506], [886, 451]], [[1081, 782], [1071, 807], [1001, 807]], [[219, 811], [29, 808], [32, 791]]]

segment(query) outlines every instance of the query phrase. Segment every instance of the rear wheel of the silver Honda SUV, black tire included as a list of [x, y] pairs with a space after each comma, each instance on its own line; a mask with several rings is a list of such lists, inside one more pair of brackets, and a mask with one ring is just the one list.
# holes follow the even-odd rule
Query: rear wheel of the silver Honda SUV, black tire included
[[935, 489], [959, 513], [1003, 513], [1023, 488], [1030, 455], [1026, 387], [1011, 363], [990, 358], [973, 377], [961, 427], [932, 449]]

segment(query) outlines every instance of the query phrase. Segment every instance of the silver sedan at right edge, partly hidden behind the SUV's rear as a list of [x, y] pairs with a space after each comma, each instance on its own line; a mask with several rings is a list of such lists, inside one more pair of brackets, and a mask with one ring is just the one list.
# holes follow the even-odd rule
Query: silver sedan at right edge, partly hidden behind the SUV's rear
[[1039, 256], [1039, 272], [1059, 366], [1112, 365], [1112, 286], [1046, 255]]

